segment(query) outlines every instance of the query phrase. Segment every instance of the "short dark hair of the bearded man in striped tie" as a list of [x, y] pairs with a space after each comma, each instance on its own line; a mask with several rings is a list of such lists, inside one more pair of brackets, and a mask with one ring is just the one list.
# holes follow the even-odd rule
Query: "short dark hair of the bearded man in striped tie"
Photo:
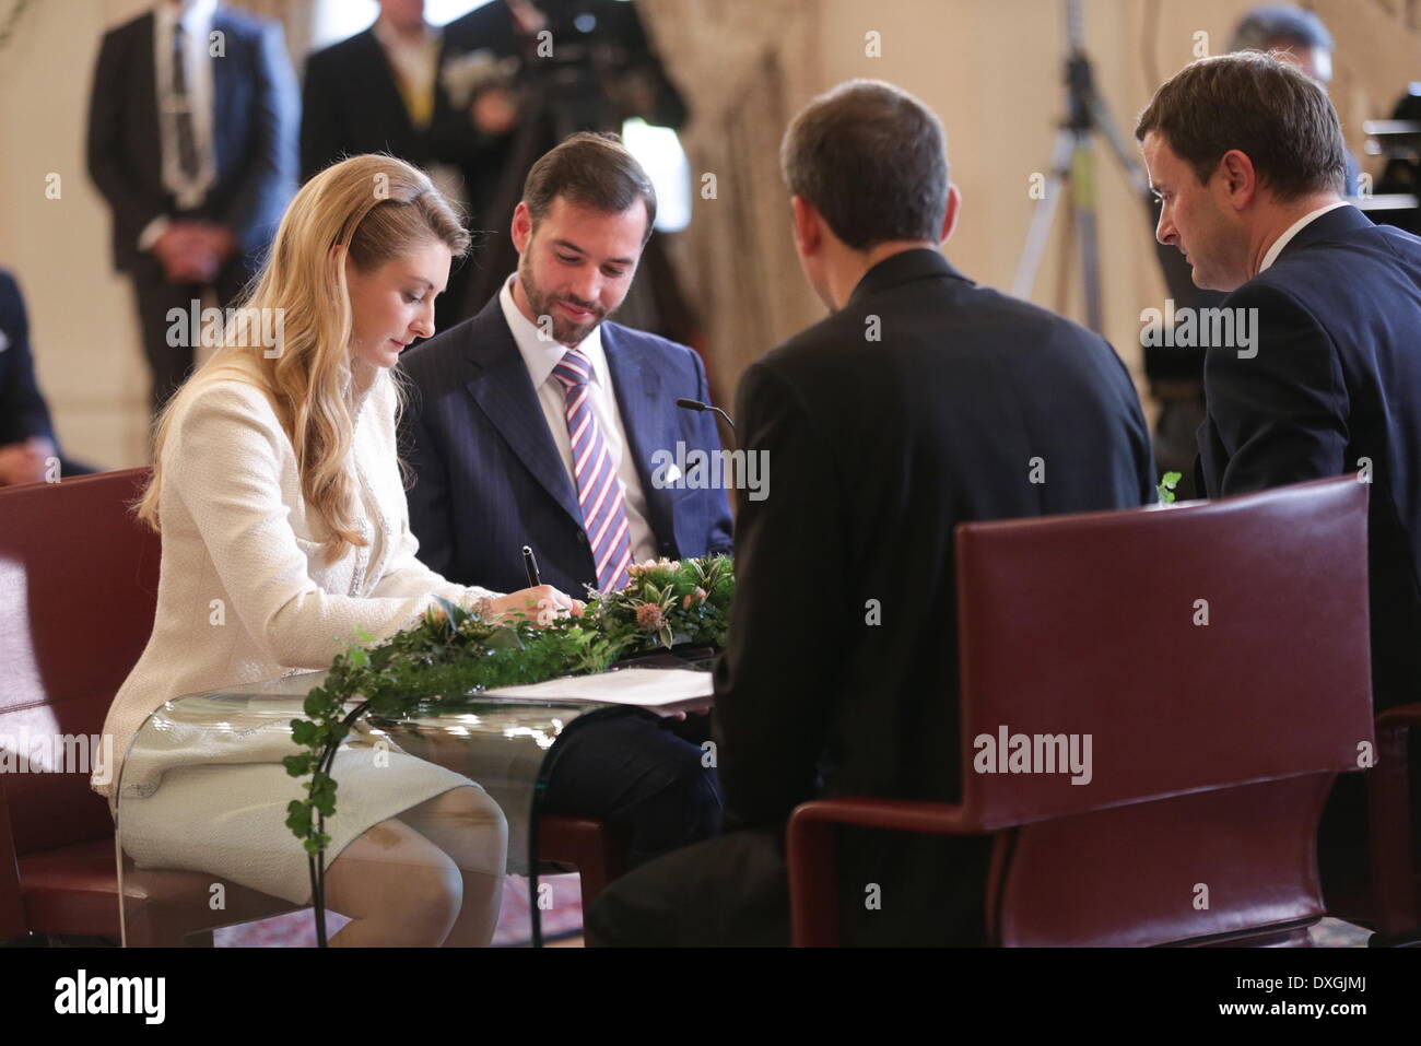
[[620, 215], [641, 200], [647, 205], [647, 233], [641, 242], [651, 239], [657, 190], [618, 135], [580, 131], [543, 153], [523, 182], [523, 202], [529, 205], [534, 226], [557, 196], [610, 215]]

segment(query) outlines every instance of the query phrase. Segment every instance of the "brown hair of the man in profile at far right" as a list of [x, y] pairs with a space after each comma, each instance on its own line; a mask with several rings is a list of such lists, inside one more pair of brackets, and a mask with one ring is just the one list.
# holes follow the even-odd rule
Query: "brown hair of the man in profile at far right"
[[1296, 65], [1258, 51], [1185, 65], [1140, 114], [1135, 138], [1151, 131], [1201, 185], [1238, 149], [1280, 200], [1343, 190], [1347, 148], [1327, 94]]

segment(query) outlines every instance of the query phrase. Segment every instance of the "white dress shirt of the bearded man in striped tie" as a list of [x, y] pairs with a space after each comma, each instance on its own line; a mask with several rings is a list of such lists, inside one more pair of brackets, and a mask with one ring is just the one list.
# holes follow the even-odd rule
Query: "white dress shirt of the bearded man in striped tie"
[[[499, 304], [503, 306], [503, 318], [513, 331], [513, 340], [523, 354], [523, 365], [529, 370], [533, 389], [537, 392], [539, 404], [543, 406], [543, 418], [553, 433], [553, 442], [563, 456], [563, 468], [567, 478], [577, 490], [577, 475], [573, 472], [573, 439], [567, 432], [567, 397], [563, 392], [563, 382], [553, 375], [553, 368], [563, 362], [563, 355], [568, 347], [560, 341], [540, 337], [537, 324], [529, 320], [513, 301], [514, 273], [503, 283], [499, 291]], [[617, 469], [617, 479], [621, 480], [627, 505], [627, 534], [631, 540], [631, 554], [637, 563], [657, 557], [657, 536], [651, 533], [647, 522], [647, 495], [641, 489], [641, 476], [637, 466], [627, 453], [627, 431], [621, 424], [621, 412], [617, 409], [617, 395], [612, 389], [612, 375], [607, 370], [607, 354], [603, 351], [601, 324], [593, 328], [576, 347], [593, 367], [593, 384], [588, 397], [593, 401], [593, 416], [607, 441], [607, 452], [612, 456]]]

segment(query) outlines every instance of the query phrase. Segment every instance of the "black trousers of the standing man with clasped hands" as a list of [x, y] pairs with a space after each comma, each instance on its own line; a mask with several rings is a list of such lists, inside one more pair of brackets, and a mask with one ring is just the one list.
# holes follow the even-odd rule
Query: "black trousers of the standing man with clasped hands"
[[[149, 408], [156, 418], [163, 404], [178, 391], [178, 387], [192, 372], [196, 347], [202, 337], [202, 325], [192, 330], [188, 318], [178, 320], [172, 310], [183, 317], [192, 316], [193, 301], [202, 314], [200, 283], [171, 283], [162, 263], [152, 254], [141, 254], [132, 269], [134, 294], [138, 298], [138, 323], [144, 341], [144, 357], [148, 360]], [[233, 254], [213, 280], [217, 306], [233, 306], [250, 276], [243, 256]], [[175, 333], [176, 337], [169, 337]], [[178, 344], [169, 344], [176, 341]]]

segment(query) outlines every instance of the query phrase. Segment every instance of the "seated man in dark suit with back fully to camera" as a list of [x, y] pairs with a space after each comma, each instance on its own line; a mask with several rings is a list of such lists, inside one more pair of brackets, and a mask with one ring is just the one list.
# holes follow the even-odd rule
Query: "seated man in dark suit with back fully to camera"
[[[853, 81], [794, 118], [782, 162], [800, 263], [833, 314], [740, 381], [740, 443], [774, 468], [766, 497], [739, 497], [716, 672], [739, 830], [614, 883], [590, 912], [598, 944], [789, 944], [799, 803], [961, 796], [953, 527], [1154, 496], [1110, 345], [938, 252], [959, 198], [932, 112]], [[844, 942], [982, 941], [988, 858], [982, 840], [845, 833]]]

